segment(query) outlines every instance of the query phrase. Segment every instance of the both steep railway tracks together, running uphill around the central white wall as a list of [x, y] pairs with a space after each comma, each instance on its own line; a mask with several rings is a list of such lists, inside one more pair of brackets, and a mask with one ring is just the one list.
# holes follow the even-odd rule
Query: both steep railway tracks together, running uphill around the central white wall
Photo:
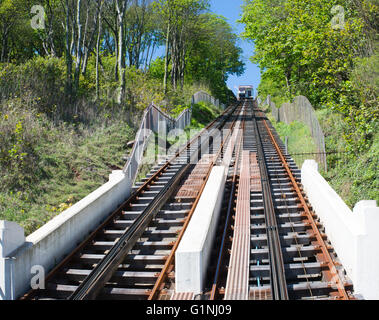
[[175, 293], [175, 252], [214, 165], [229, 171], [201, 299], [354, 298], [300, 170], [256, 102], [230, 107], [206, 129], [212, 139], [203, 131], [152, 168], [46, 288], [22, 299], [194, 299]]

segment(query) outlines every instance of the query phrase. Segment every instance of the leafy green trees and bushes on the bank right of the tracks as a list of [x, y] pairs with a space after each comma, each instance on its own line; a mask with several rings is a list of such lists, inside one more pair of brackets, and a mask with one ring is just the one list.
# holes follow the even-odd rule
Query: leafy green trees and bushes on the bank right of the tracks
[[325, 177], [350, 206], [378, 200], [379, 1], [246, 0], [241, 22], [262, 72], [259, 95], [277, 107], [306, 96], [326, 150], [347, 152]]

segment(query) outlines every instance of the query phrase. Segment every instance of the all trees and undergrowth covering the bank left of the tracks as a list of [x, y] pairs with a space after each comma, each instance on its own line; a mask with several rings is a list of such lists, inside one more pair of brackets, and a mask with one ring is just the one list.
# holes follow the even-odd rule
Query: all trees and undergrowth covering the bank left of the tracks
[[107, 181], [151, 102], [229, 103], [241, 52], [206, 0], [0, 1], [0, 219], [29, 234]]

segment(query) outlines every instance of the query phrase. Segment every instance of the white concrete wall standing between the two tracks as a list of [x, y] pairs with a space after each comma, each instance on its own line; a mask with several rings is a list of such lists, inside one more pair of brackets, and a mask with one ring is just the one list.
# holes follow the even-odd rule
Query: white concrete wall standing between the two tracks
[[176, 292], [199, 294], [203, 290], [225, 181], [225, 167], [214, 167], [175, 254]]

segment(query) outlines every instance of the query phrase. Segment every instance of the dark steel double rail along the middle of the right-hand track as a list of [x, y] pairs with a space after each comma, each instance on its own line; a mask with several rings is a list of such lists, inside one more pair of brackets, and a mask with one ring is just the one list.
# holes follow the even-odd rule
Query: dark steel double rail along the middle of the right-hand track
[[272, 191], [264, 156], [262, 138], [259, 132], [255, 111], [253, 111], [253, 123], [257, 138], [258, 163], [261, 172], [263, 206], [266, 217], [266, 232], [270, 257], [271, 292], [274, 300], [288, 300], [288, 290], [284, 271], [283, 254], [278, 233], [278, 224], [272, 200]]

